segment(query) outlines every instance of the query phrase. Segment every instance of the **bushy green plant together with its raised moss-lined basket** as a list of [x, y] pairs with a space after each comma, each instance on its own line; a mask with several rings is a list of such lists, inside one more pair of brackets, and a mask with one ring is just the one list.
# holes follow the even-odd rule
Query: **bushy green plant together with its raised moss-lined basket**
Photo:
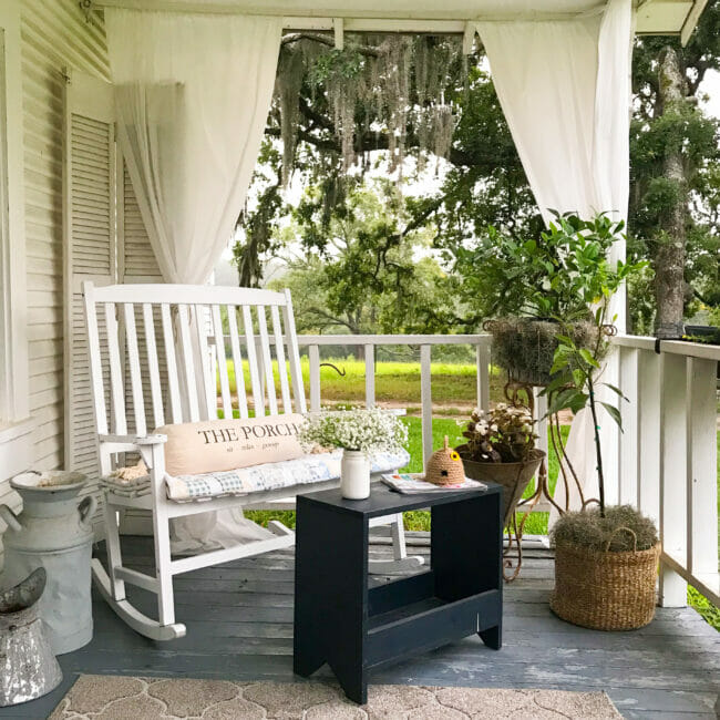
[[494, 360], [511, 381], [551, 382], [558, 318], [578, 348], [597, 347], [589, 308], [604, 288], [614, 292], [625, 280], [626, 264], [608, 259], [623, 229], [604, 214], [583, 219], [556, 213], [537, 239], [517, 240], [491, 227], [476, 248], [459, 251], [465, 292], [480, 298], [482, 317], [491, 318], [485, 328]]

